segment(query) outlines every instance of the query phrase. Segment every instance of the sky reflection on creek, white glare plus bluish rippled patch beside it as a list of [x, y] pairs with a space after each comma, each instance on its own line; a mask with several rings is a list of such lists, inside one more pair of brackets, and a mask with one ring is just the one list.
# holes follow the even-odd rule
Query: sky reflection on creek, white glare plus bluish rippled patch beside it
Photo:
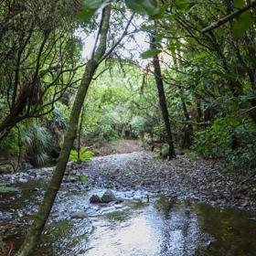
[[206, 247], [210, 236], [199, 230], [197, 215], [190, 214], [184, 204], [169, 207], [164, 202], [170, 203], [160, 197], [127, 221], [95, 229], [90, 249], [80, 255], [182, 256], [194, 255], [198, 247]]

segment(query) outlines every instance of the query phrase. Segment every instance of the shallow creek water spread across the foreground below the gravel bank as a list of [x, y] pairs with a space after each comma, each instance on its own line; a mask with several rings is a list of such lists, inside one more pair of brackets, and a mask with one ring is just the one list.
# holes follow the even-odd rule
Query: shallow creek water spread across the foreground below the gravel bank
[[[45, 184], [19, 184], [2, 195], [0, 237], [18, 248]], [[256, 255], [256, 213], [218, 208], [144, 191], [113, 191], [121, 204], [91, 205], [104, 189], [62, 188], [35, 255], [188, 256]], [[149, 201], [148, 201], [149, 198]], [[84, 210], [84, 219], [70, 219]]]

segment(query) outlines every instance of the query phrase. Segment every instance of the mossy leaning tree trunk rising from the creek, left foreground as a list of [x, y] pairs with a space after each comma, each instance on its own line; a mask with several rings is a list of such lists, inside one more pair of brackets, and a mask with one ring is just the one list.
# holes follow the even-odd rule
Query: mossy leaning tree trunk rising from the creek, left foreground
[[55, 197], [57, 196], [57, 193], [59, 191], [62, 178], [65, 174], [66, 165], [69, 160], [70, 150], [77, 136], [80, 110], [82, 108], [83, 101], [85, 99], [88, 88], [91, 84], [92, 76], [95, 70], [98, 68], [100, 60], [104, 56], [104, 53], [106, 51], [106, 40], [109, 30], [110, 15], [111, 6], [107, 5], [102, 10], [99, 46], [95, 50], [94, 58], [92, 57], [88, 61], [82, 80], [80, 82], [80, 87], [77, 91], [76, 98], [73, 103], [72, 110], [70, 112], [69, 127], [64, 138], [64, 143], [59, 155], [59, 160], [56, 169], [50, 180], [48, 190], [46, 192], [42, 204], [40, 205], [34, 222], [28, 229], [27, 236], [21, 248], [16, 253], [17, 256], [27, 256], [33, 252], [37, 245], [37, 240], [39, 240], [40, 234], [48, 220], [48, 215], [54, 203]]

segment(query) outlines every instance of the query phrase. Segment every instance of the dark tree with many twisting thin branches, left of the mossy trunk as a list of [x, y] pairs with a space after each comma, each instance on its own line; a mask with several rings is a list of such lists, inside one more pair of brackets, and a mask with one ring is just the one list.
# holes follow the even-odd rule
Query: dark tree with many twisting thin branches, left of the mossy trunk
[[80, 42], [72, 35], [78, 6], [57, 0], [1, 2], [0, 142], [16, 124], [52, 112], [78, 83]]

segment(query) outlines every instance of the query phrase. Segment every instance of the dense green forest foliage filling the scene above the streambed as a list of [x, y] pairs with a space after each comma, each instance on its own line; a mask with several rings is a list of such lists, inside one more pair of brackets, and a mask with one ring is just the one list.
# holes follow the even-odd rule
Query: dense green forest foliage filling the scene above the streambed
[[[99, 11], [110, 1], [2, 2], [1, 155], [43, 165], [59, 154], [86, 47], [92, 48], [86, 38], [95, 39]], [[112, 4], [112, 50], [83, 106], [81, 146], [123, 136], [167, 143], [151, 64], [159, 55], [176, 147], [225, 159], [232, 168], [252, 167], [254, 2], [208, 1], [209, 8], [188, 1]], [[132, 12], [125, 39], [118, 41]]]

